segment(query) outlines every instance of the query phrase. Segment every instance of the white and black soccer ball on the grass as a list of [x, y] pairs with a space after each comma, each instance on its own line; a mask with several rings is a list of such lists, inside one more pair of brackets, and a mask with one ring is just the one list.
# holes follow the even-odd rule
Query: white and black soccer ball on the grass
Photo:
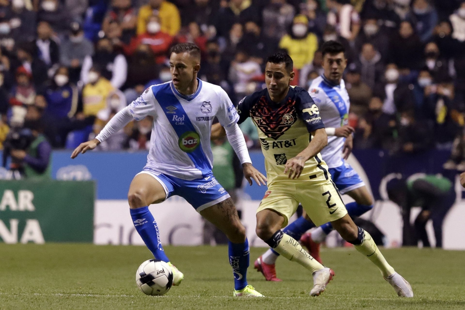
[[146, 295], [163, 295], [173, 285], [173, 272], [167, 263], [149, 259], [137, 269], [136, 283]]

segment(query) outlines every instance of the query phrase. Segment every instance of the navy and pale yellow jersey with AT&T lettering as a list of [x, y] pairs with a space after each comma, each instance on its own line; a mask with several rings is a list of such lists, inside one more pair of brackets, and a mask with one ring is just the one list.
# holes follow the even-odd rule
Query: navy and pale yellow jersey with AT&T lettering
[[[301, 87], [290, 87], [281, 102], [273, 102], [265, 88], [242, 99], [237, 111], [239, 124], [251, 117], [258, 129], [268, 186], [275, 181], [292, 181], [284, 174], [287, 160], [308, 146], [311, 132], [325, 127], [318, 107]], [[327, 179], [326, 164], [318, 154], [306, 161], [302, 174], [294, 180], [325, 180], [322, 172]]]

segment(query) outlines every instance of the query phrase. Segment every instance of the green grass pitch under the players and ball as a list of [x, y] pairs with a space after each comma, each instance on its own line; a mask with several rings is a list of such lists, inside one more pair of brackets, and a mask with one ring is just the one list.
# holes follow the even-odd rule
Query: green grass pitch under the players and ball
[[226, 246], [165, 247], [186, 278], [165, 296], [144, 295], [135, 272], [151, 258], [142, 246], [0, 243], [0, 309], [465, 309], [465, 251], [384, 249], [415, 297], [399, 298], [377, 268], [352, 248], [323, 249], [336, 277], [320, 297], [312, 277], [282, 257], [281, 283], [253, 269], [263, 248], [251, 249], [248, 281], [265, 298], [234, 298]]

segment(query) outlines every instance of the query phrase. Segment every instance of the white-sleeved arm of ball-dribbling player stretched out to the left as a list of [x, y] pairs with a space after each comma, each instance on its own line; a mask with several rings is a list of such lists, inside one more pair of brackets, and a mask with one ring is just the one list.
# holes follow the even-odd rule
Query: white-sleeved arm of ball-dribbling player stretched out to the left
[[95, 139], [81, 143], [71, 154], [71, 158], [76, 158], [79, 153], [86, 153], [86, 151], [94, 149], [108, 138], [113, 133], [119, 131], [121, 128], [125, 127], [127, 123], [133, 120], [131, 112], [129, 112], [129, 106], [122, 109], [120, 112], [116, 113], [115, 116], [105, 125], [105, 127], [100, 131]]

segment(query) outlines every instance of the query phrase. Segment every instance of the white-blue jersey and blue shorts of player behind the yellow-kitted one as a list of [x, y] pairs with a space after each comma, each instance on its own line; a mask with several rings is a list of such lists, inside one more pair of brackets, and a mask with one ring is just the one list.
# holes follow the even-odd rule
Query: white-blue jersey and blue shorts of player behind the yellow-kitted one
[[[324, 76], [312, 81], [308, 92], [319, 108], [326, 128], [339, 128], [348, 124], [350, 100], [344, 80], [335, 85]], [[328, 145], [320, 152], [341, 194], [365, 186], [359, 175], [342, 158], [344, 137], [328, 136]]]

